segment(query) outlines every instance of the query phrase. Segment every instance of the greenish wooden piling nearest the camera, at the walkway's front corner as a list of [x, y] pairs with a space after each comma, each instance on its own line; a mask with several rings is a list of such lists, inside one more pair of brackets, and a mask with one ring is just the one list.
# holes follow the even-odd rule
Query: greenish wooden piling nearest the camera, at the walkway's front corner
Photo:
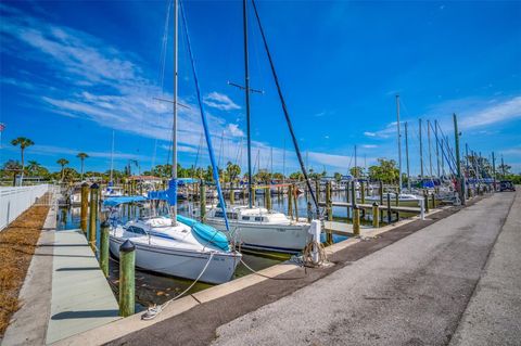
[[119, 316], [135, 312], [136, 299], [136, 246], [129, 240], [119, 246]]

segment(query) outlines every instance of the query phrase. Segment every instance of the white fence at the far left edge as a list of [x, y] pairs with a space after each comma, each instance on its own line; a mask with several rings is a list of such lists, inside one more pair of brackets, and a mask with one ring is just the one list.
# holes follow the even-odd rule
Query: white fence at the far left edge
[[49, 190], [48, 184], [0, 188], [0, 231]]

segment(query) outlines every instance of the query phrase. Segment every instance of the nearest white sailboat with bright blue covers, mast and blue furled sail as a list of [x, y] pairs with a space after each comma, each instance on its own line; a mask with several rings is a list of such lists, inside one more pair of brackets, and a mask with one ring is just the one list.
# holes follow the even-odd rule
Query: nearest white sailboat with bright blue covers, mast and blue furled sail
[[[160, 273], [200, 280], [208, 283], [223, 283], [229, 281], [241, 261], [242, 255], [236, 252], [229, 244], [223, 232], [215, 228], [177, 215], [177, 82], [178, 82], [178, 9], [179, 0], [175, 0], [174, 7], [174, 114], [173, 114], [173, 169], [171, 179], [166, 191], [154, 192], [149, 198], [143, 196], [123, 196], [107, 198], [104, 205], [111, 208], [112, 231], [110, 233], [110, 248], [113, 255], [119, 256], [118, 248], [127, 240], [136, 246], [136, 266], [145, 270]], [[185, 30], [187, 30], [185, 13]], [[191, 55], [190, 41], [187, 41], [192, 60], [192, 71], [196, 81], [193, 56]], [[201, 95], [198, 88], [199, 105], [205, 130], [206, 143], [213, 166], [214, 179], [219, 200], [224, 202], [219, 184], [218, 169], [216, 169], [213, 154], [212, 140], [203, 112]], [[140, 217], [125, 223], [118, 222], [118, 207], [128, 203], [150, 203], [150, 217]], [[156, 215], [155, 201], [167, 201], [169, 213], [166, 216]], [[227, 225], [228, 226], [228, 225]], [[227, 227], [228, 229], [228, 227]]]

